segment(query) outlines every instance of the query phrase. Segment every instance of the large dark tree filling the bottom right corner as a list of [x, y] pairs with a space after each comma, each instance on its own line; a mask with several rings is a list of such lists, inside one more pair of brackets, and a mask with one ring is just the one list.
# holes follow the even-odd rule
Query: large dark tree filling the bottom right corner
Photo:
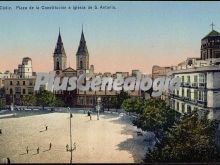
[[185, 114], [170, 128], [161, 142], [149, 150], [145, 162], [210, 162], [219, 161], [216, 147], [218, 122], [208, 113], [199, 117], [196, 111]]

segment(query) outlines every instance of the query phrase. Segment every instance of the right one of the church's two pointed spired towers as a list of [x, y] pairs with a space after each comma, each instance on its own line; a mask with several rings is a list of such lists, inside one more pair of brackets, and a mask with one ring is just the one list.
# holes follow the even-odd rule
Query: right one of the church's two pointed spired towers
[[86, 46], [83, 29], [81, 33], [79, 47], [76, 53], [76, 70], [78, 76], [80, 74], [86, 73], [86, 71], [89, 70], [89, 52]]

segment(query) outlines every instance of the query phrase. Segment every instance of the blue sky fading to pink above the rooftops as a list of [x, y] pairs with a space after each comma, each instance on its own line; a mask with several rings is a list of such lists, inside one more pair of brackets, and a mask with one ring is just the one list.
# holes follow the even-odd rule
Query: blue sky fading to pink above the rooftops
[[[16, 10], [16, 6], [114, 6], [116, 9]], [[200, 56], [201, 38], [220, 31], [220, 2], [0, 2], [0, 72], [13, 71], [23, 57], [35, 72], [53, 70], [59, 27], [68, 66], [76, 68], [83, 31], [95, 72], [172, 66]]]

